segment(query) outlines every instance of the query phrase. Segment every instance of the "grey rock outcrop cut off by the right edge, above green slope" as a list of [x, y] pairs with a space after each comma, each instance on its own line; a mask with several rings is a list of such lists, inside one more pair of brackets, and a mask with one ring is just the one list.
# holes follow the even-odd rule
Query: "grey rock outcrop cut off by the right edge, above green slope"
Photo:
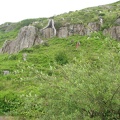
[[120, 40], [120, 26], [114, 26], [103, 31], [104, 35], [110, 35], [113, 39]]

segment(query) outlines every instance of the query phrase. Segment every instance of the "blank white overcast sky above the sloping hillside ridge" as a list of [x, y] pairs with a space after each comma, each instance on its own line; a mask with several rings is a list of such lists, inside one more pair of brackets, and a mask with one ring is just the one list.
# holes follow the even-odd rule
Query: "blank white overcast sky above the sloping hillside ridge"
[[119, 0], [0, 0], [0, 24], [51, 17], [117, 1]]

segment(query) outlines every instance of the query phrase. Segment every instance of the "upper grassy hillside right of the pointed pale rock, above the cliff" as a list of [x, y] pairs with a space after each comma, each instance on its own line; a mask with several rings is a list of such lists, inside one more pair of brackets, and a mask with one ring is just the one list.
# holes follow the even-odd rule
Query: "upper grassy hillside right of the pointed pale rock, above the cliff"
[[115, 25], [115, 20], [120, 16], [120, 1], [97, 7], [86, 8], [83, 10], [70, 11], [69, 13], [61, 14], [54, 17], [55, 21], [61, 25], [65, 24], [88, 24], [89, 22], [98, 22], [102, 17], [104, 28], [109, 28]]

